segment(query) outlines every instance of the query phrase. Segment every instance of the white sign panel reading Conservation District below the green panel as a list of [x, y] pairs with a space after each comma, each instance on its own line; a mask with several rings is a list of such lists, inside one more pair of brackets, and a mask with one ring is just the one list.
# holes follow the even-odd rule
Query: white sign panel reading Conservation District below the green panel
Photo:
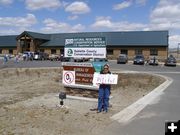
[[106, 48], [64, 48], [65, 57], [106, 58]]

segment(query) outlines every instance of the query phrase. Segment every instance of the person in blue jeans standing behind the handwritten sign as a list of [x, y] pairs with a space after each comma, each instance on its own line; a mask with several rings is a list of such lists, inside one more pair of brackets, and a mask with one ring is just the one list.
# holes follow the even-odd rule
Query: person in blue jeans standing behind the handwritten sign
[[[103, 70], [100, 74], [111, 74], [109, 70], [109, 65], [105, 64]], [[109, 96], [110, 96], [111, 86], [110, 84], [100, 84], [98, 93], [98, 113], [102, 110], [108, 112], [109, 107]]]

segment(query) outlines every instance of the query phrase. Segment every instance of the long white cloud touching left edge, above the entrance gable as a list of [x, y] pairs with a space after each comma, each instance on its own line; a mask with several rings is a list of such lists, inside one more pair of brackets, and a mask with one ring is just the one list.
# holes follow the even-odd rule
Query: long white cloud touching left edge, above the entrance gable
[[0, 27], [30, 27], [37, 23], [33, 14], [27, 14], [26, 17], [0, 17]]

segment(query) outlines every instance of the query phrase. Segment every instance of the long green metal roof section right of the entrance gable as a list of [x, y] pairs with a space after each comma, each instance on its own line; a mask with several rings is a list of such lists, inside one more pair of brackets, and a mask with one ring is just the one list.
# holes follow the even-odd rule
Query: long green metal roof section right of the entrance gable
[[83, 32], [52, 34], [42, 47], [64, 46], [66, 38], [105, 37], [108, 46], [168, 46], [168, 31]]

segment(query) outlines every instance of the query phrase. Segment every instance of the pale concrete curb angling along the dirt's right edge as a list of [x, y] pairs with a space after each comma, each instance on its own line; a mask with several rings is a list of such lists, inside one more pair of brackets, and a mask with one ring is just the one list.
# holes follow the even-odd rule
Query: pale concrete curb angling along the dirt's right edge
[[[157, 75], [157, 74], [155, 74]], [[127, 108], [123, 109], [119, 113], [111, 116], [112, 120], [116, 120], [119, 123], [127, 123], [129, 122], [134, 116], [136, 116], [140, 111], [142, 111], [147, 105], [151, 104], [157, 97], [159, 97], [162, 92], [173, 82], [173, 80], [169, 77], [163, 75], [161, 76], [166, 79], [164, 83], [160, 86], [155, 88], [153, 91], [148, 93], [146, 96], [142, 97], [138, 101], [134, 102]]]

